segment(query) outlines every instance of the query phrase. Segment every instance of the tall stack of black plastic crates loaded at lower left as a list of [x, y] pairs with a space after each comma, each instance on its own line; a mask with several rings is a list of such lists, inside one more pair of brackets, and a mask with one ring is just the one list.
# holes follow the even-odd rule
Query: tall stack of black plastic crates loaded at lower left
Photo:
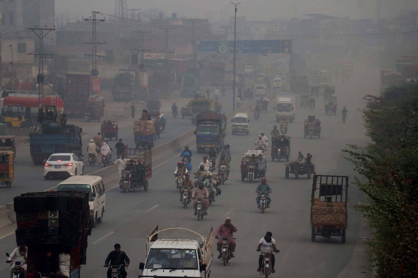
[[[86, 259], [89, 234], [88, 193], [39, 192], [14, 198], [16, 244], [61, 244], [82, 247]], [[84, 249], [84, 250], [83, 250]]]

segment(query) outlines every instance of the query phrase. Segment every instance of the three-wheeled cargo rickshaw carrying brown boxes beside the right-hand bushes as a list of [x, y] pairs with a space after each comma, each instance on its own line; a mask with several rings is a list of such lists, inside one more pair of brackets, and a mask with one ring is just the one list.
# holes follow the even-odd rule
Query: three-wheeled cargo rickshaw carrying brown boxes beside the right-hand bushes
[[345, 243], [348, 224], [348, 176], [314, 175], [311, 195], [311, 241], [316, 235], [341, 237]]

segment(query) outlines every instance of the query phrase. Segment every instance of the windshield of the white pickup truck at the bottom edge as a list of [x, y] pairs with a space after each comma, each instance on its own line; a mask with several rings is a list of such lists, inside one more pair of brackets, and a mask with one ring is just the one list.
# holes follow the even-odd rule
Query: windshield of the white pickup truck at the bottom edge
[[147, 269], [198, 269], [196, 250], [151, 249], [145, 268]]

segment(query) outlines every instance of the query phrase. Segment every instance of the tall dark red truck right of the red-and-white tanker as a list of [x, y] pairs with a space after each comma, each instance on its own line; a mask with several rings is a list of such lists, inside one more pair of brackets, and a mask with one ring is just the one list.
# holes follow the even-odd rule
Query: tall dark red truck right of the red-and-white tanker
[[91, 75], [85, 72], [68, 72], [66, 75], [64, 111], [72, 118], [86, 115], [86, 102], [91, 95]]

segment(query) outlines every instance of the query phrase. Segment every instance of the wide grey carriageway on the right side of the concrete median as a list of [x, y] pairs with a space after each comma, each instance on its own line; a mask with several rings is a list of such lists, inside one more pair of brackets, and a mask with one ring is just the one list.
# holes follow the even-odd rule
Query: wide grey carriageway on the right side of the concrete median
[[[360, 69], [359, 69], [360, 70]], [[370, 69], [361, 69], [364, 75]], [[342, 149], [346, 144], [362, 145], [367, 141], [362, 126], [362, 97], [377, 91], [376, 84], [359, 75], [345, 84], [337, 84], [339, 112], [346, 105], [349, 110], [346, 124], [342, 124], [340, 113], [336, 116], [324, 113], [322, 100], [317, 101], [314, 111], [309, 108], [297, 108], [296, 121], [289, 125], [291, 136], [291, 160], [296, 159], [300, 150], [303, 154], [311, 153], [312, 162], [316, 165], [319, 174], [349, 175], [354, 180], [353, 166], [344, 159]], [[352, 90], [352, 88], [357, 90]], [[360, 89], [359, 89], [360, 88]], [[316, 115], [321, 120], [321, 139], [303, 138], [303, 121], [308, 115]], [[301, 176], [298, 180], [284, 178], [285, 162], [270, 161], [268, 159], [266, 177], [273, 188], [272, 203], [265, 214], [257, 210], [255, 203], [255, 183], [240, 180], [240, 158], [247, 149], [253, 147], [253, 142], [260, 131], [270, 133], [275, 125], [274, 112], [261, 113], [258, 121], [250, 123], [250, 135], [231, 135], [229, 128], [226, 143], [231, 145], [232, 163], [230, 179], [221, 186], [222, 195], [217, 196], [216, 202], [209, 208], [209, 215], [202, 221], [193, 216], [192, 208], [183, 209], [178, 201], [179, 193], [175, 188], [172, 176], [176, 159], [168, 159], [153, 169], [153, 178], [150, 180], [148, 192], [142, 190], [122, 193], [118, 188], [107, 191], [107, 208], [104, 222], [93, 229], [89, 237], [87, 249], [87, 265], [82, 266], [83, 277], [103, 277], [105, 269], [102, 268], [104, 259], [113, 249], [115, 243], [122, 245], [127, 252], [131, 263], [128, 270], [129, 277], [141, 274], [138, 270], [140, 262], [145, 258], [145, 237], [155, 225], [160, 228], [181, 226], [197, 230], [206, 235], [211, 226], [214, 230], [223, 223], [226, 216], [232, 218], [232, 223], [238, 231], [236, 257], [227, 267], [216, 259], [217, 251], [214, 244], [214, 263], [212, 277], [256, 277], [258, 241], [267, 231], [273, 233], [280, 253], [276, 255], [276, 273], [272, 277], [307, 277], [314, 274], [316, 277], [332, 278], [344, 268], [351, 259], [355, 242], [358, 238], [361, 215], [352, 209], [352, 206], [361, 202], [364, 195], [357, 186], [349, 189], [349, 228], [347, 230], [347, 243], [340, 243], [340, 238], [324, 239], [317, 237], [311, 242], [310, 228], [310, 200], [311, 180]], [[199, 163], [199, 155], [194, 155], [194, 169]], [[269, 155], [268, 155], [269, 158]], [[29, 189], [27, 191], [31, 191]], [[176, 234], [175, 238], [189, 234]], [[1, 237], [0, 237], [1, 238]], [[170, 238], [170, 235], [164, 235]], [[4, 252], [11, 252], [15, 248], [13, 235], [0, 239]], [[7, 265], [0, 267], [6, 273]], [[353, 273], [353, 277], [359, 277]]]

